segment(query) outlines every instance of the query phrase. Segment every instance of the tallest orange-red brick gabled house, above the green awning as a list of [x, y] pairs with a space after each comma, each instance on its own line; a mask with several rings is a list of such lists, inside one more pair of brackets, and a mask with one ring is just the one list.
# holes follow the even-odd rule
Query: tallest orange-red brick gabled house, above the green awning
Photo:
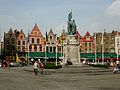
[[29, 52], [45, 52], [45, 38], [37, 24], [33, 27], [29, 35]]

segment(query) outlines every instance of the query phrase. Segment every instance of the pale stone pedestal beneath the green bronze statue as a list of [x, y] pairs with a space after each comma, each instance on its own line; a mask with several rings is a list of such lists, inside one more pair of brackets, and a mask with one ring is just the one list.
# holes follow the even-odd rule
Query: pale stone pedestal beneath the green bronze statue
[[76, 35], [68, 35], [66, 41], [63, 42], [63, 64], [67, 64], [67, 60], [73, 65], [80, 64], [80, 42], [76, 39]]

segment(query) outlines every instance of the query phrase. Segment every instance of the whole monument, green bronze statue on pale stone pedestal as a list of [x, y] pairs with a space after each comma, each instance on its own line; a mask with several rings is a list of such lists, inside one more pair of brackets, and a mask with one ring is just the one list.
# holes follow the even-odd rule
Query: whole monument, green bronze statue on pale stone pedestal
[[63, 64], [69, 61], [72, 65], [76, 65], [80, 63], [80, 42], [76, 38], [77, 29], [75, 20], [72, 20], [72, 12], [68, 15], [67, 30], [66, 40], [63, 42]]

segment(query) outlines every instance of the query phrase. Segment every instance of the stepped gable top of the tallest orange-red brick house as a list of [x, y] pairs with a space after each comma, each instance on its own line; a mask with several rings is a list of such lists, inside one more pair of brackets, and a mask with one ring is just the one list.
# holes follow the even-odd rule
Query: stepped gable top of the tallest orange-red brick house
[[[37, 34], [35, 35], [35, 33], [37, 32]], [[33, 27], [31, 33], [30, 33], [30, 37], [43, 37], [40, 28], [38, 27], [37, 24], [35, 24], [35, 26]]]

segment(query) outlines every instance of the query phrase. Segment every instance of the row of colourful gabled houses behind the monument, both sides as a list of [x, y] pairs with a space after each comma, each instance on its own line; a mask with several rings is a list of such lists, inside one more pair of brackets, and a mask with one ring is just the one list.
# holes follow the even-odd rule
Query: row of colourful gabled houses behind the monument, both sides
[[[77, 31], [76, 39], [80, 41], [80, 53], [111, 52], [120, 54], [120, 32], [94, 33], [86, 32], [84, 36]], [[55, 58], [61, 57], [63, 53], [63, 42], [66, 40], [67, 32], [63, 29], [57, 36], [52, 29], [43, 36], [40, 27], [35, 24], [32, 31], [26, 36], [23, 30], [10, 30], [4, 32], [1, 54], [4, 59], [11, 61]], [[117, 39], [116, 39], [117, 38]], [[101, 44], [102, 42], [102, 44]], [[104, 46], [104, 50], [103, 50]]]

